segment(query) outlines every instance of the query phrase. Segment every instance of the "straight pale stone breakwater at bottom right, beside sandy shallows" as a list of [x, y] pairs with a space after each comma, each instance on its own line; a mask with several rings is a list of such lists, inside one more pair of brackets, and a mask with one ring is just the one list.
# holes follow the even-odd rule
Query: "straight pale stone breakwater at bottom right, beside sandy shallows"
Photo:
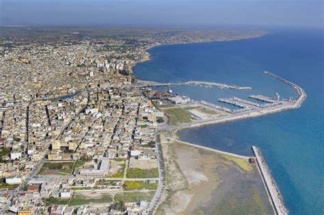
[[282, 196], [280, 194], [278, 186], [275, 184], [275, 180], [271, 176], [270, 170], [263, 160], [263, 157], [260, 153], [260, 150], [257, 147], [252, 146], [252, 151], [256, 156], [256, 164], [258, 166], [258, 170], [260, 171], [260, 175], [262, 177], [262, 181], [267, 188], [267, 192], [271, 199], [271, 203], [275, 210], [275, 214], [278, 215], [286, 215], [288, 214], [288, 210], [284, 206], [284, 201], [282, 200]]

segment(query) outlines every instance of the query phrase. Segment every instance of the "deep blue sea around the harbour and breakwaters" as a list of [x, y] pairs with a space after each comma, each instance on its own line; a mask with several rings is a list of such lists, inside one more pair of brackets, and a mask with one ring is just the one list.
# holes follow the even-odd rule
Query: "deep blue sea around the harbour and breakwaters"
[[297, 97], [265, 75], [271, 71], [303, 87], [298, 110], [179, 132], [181, 139], [243, 155], [260, 147], [291, 214], [324, 214], [323, 31], [272, 30], [267, 36], [232, 42], [163, 45], [149, 51], [135, 75], [153, 81], [216, 81], [252, 90], [178, 86], [174, 92], [218, 103], [220, 97], [249, 94]]

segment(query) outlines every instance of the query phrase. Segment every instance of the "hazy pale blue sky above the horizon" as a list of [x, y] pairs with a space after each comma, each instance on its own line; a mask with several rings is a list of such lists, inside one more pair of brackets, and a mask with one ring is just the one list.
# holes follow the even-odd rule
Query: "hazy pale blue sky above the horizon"
[[0, 25], [323, 27], [316, 0], [0, 0]]

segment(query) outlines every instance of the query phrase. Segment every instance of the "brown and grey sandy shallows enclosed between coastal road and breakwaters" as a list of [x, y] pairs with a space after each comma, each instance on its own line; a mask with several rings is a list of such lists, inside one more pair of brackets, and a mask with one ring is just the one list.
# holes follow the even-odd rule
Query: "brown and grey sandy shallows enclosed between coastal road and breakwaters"
[[170, 141], [161, 134], [167, 185], [157, 214], [273, 214], [255, 164], [169, 134]]

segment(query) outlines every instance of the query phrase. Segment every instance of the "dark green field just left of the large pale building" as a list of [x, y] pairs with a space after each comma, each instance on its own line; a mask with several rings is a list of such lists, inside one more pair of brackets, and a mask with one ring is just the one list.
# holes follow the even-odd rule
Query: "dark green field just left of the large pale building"
[[[38, 175], [72, 175], [73, 170], [83, 164], [84, 162], [81, 160], [75, 162], [45, 162]], [[57, 173], [46, 173], [46, 170], [57, 170]]]

